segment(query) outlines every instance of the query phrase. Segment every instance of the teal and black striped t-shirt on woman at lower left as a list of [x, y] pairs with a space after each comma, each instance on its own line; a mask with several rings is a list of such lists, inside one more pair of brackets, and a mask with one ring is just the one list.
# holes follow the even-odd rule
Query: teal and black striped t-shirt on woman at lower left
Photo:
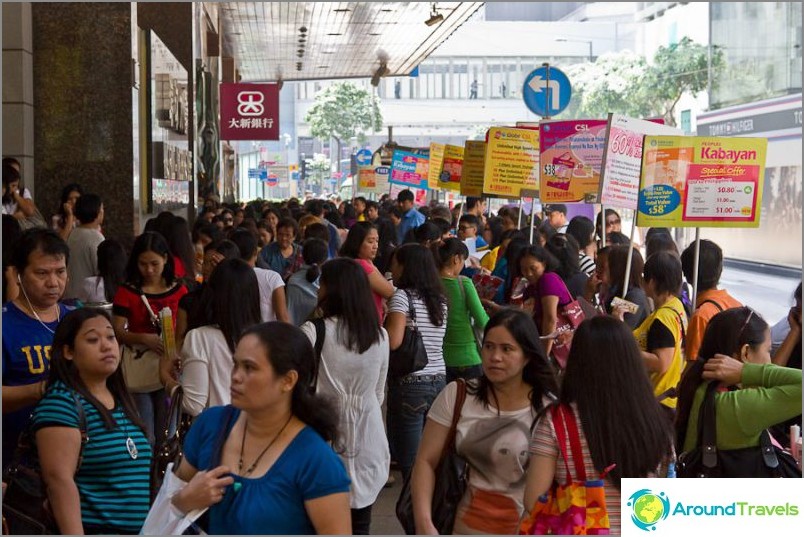
[[[138, 533], [150, 508], [151, 446], [118, 404], [112, 411], [117, 426], [107, 430], [100, 412], [78, 394], [86, 415], [88, 441], [75, 484], [81, 501], [84, 526], [102, 526], [122, 533]], [[72, 391], [61, 382], [48, 390], [31, 418], [34, 431], [46, 427], [80, 429]], [[132, 459], [126, 447], [137, 446]]]

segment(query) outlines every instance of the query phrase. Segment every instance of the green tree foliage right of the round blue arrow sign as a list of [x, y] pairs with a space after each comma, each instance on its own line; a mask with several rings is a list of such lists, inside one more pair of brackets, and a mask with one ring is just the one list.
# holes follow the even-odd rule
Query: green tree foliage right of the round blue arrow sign
[[[710, 68], [711, 61], [711, 68]], [[567, 75], [575, 93], [563, 117], [601, 118], [609, 112], [631, 117], [661, 117], [675, 125], [676, 105], [684, 94], [697, 95], [716, 83], [725, 69], [722, 52], [688, 37], [659, 47], [648, 63], [633, 52], [600, 56], [594, 63], [572, 65]]]

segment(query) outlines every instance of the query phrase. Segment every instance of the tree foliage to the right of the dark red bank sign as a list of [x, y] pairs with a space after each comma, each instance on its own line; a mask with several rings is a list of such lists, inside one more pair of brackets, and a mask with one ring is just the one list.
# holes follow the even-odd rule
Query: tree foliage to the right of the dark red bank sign
[[362, 142], [366, 133], [382, 128], [380, 99], [351, 82], [336, 82], [316, 95], [304, 120], [316, 138], [335, 138], [339, 145], [351, 138]]

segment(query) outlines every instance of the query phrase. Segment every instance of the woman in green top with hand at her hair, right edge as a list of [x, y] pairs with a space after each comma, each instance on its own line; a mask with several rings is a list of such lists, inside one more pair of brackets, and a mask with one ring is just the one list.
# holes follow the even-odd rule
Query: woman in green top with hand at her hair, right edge
[[700, 358], [679, 385], [679, 453], [697, 443], [708, 381], [723, 387], [715, 394], [718, 449], [758, 446], [762, 431], [801, 413], [801, 370], [771, 364], [770, 347], [768, 323], [751, 308], [728, 309], [709, 321]]

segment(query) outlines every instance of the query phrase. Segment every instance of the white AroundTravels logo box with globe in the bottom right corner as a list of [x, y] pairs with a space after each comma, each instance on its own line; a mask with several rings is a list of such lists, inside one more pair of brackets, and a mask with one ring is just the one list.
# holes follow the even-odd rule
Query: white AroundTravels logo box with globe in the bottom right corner
[[802, 479], [623, 479], [622, 535], [800, 531]]

